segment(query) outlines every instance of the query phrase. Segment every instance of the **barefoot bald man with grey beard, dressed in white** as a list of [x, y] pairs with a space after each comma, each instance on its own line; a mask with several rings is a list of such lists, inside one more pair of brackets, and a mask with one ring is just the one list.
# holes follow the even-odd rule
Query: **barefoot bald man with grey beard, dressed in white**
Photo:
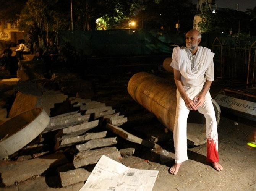
[[175, 164], [169, 169], [176, 175], [187, 155], [187, 118], [190, 110], [198, 110], [206, 118], [207, 161], [217, 170], [223, 170], [218, 163], [218, 133], [214, 107], [209, 93], [214, 80], [214, 53], [201, 42], [199, 31], [186, 33], [186, 47], [176, 47], [172, 53], [174, 80], [177, 86], [177, 107], [173, 131]]

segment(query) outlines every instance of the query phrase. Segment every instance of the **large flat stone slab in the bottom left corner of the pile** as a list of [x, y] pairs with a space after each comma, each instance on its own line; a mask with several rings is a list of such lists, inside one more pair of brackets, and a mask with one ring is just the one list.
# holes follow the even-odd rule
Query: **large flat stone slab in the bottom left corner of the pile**
[[67, 162], [68, 159], [60, 152], [26, 160], [26, 162], [5, 161], [0, 163], [2, 183], [5, 186], [10, 186], [15, 182], [27, 180], [34, 175], [41, 175], [50, 167]]

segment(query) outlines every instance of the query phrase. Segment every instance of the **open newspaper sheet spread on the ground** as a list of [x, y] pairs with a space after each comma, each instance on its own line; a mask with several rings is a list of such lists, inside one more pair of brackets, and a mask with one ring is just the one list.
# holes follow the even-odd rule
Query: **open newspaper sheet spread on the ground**
[[80, 191], [152, 191], [158, 172], [129, 168], [102, 155]]

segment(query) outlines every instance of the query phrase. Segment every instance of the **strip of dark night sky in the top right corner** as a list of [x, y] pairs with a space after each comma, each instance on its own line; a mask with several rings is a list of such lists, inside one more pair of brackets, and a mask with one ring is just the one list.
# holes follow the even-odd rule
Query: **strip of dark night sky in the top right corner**
[[[197, 0], [192, 0], [193, 3], [197, 3]], [[215, 3], [220, 8], [237, 9], [239, 4], [239, 11], [246, 11], [248, 8], [254, 8], [256, 6], [256, 0], [216, 0]]]

